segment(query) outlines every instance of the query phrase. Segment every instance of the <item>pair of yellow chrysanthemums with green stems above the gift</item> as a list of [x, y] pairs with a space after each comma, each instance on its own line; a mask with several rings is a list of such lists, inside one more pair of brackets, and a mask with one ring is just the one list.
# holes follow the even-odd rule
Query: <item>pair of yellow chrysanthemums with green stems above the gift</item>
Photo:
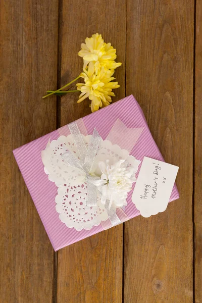
[[89, 97], [91, 100], [91, 111], [94, 112], [112, 102], [111, 96], [115, 96], [112, 89], [120, 86], [118, 82], [112, 81], [115, 79], [112, 75], [114, 70], [121, 66], [121, 63], [115, 61], [117, 58], [116, 49], [111, 43], [105, 43], [102, 35], [98, 33], [85, 39], [85, 43], [81, 44], [81, 51], [78, 55], [83, 58], [83, 73], [61, 88], [55, 91], [47, 91], [48, 94], [43, 96], [43, 98], [52, 94], [62, 95], [74, 92], [75, 90], [63, 91], [63, 89], [78, 80], [79, 77], [82, 77], [85, 83], [76, 84], [77, 90], [81, 91], [78, 103]]

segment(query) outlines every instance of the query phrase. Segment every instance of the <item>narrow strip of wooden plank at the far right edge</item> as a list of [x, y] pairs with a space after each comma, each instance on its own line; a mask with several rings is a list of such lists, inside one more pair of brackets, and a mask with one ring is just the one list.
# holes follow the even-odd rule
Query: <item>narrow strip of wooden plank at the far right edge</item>
[[194, 288], [195, 302], [202, 302], [202, 3], [196, 0], [195, 23], [195, 153], [194, 153]]

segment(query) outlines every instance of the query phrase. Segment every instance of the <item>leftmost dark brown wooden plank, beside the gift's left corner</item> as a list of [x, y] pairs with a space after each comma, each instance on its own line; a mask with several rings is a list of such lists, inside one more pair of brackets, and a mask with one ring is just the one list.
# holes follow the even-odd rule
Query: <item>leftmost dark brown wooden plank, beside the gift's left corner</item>
[[52, 302], [54, 251], [12, 150], [56, 128], [58, 0], [1, 2], [1, 302]]

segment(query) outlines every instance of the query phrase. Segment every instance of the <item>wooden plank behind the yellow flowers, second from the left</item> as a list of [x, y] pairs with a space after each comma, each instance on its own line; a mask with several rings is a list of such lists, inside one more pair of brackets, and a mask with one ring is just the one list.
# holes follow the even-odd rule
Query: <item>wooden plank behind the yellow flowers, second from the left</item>
[[[114, 100], [124, 97], [126, 1], [64, 1], [61, 12], [61, 85], [82, 71], [80, 44], [99, 32], [123, 63], [115, 75], [121, 87]], [[77, 93], [61, 98], [61, 126], [90, 113], [89, 102], [77, 99]], [[122, 301], [122, 235], [120, 225], [59, 250], [58, 303]]]

